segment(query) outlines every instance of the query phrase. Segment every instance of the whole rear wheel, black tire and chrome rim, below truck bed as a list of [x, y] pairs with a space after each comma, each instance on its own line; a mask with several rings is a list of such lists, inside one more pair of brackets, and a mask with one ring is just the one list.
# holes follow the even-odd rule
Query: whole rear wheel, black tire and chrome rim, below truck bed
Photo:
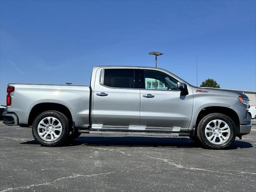
[[68, 118], [58, 111], [45, 111], [33, 122], [32, 134], [43, 146], [58, 146], [69, 136]]

